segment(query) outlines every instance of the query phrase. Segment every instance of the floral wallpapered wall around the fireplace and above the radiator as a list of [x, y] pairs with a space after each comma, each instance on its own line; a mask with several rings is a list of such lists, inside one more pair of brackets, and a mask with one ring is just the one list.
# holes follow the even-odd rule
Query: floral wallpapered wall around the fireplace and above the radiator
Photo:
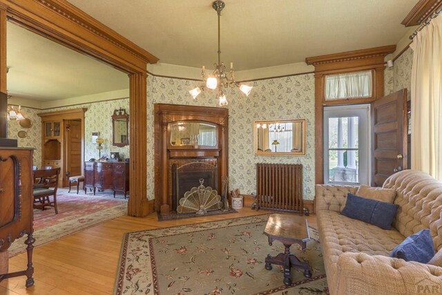
[[[217, 106], [215, 93], [206, 91], [194, 101], [189, 90], [199, 82], [149, 76], [147, 80], [147, 184], [148, 198], [154, 193], [153, 105], [191, 104]], [[249, 97], [236, 89], [227, 93], [229, 104], [229, 187], [241, 193], [256, 192], [256, 167], [259, 162], [302, 164], [304, 198], [314, 199], [314, 75], [265, 79], [253, 84]], [[263, 156], [253, 152], [253, 122], [258, 120], [307, 119], [307, 155]]]

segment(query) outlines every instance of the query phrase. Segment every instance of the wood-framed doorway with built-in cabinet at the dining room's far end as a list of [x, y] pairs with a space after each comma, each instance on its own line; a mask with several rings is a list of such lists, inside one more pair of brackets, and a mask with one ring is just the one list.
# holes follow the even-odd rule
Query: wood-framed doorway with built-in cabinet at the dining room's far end
[[[38, 114], [41, 117], [41, 166], [61, 169], [59, 187], [66, 187], [69, 176], [83, 171], [86, 111], [87, 108], [74, 108]], [[78, 129], [73, 128], [72, 122], [76, 122]]]

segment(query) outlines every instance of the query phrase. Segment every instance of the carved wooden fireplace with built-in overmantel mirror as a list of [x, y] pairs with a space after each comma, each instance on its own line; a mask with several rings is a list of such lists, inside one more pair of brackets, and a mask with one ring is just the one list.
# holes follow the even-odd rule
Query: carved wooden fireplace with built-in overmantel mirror
[[229, 110], [155, 104], [154, 115], [155, 210], [176, 211], [200, 178], [220, 195], [228, 176]]

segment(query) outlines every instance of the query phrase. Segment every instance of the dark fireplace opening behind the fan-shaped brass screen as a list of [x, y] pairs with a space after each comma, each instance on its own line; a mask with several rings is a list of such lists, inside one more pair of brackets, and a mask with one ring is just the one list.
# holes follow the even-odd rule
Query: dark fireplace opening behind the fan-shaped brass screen
[[184, 198], [184, 193], [193, 187], [200, 185], [200, 178], [204, 180], [204, 187], [215, 189], [218, 194], [218, 167], [206, 162], [189, 162], [178, 166], [172, 165], [172, 208], [177, 210], [180, 199]]

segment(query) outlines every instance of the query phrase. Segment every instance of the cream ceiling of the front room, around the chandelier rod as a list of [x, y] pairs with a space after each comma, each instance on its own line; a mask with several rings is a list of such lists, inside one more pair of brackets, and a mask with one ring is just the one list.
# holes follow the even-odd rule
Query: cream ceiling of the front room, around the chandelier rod
[[[212, 0], [68, 0], [166, 64], [217, 61]], [[418, 0], [224, 0], [222, 61], [236, 70], [396, 44]]]

